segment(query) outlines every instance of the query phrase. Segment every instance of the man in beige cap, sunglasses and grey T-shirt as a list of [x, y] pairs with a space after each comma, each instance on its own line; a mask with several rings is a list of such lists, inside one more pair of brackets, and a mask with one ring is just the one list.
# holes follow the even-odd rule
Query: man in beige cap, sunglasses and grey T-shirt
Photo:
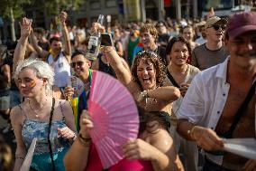
[[207, 42], [194, 49], [191, 59], [191, 64], [201, 71], [224, 62], [228, 56], [223, 42], [225, 24], [227, 24], [227, 21], [218, 16], [213, 16], [206, 21]]

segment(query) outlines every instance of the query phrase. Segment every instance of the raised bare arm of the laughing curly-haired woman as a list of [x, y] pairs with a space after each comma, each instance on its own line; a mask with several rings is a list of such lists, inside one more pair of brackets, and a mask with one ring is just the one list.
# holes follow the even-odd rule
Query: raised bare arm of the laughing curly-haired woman
[[130, 70], [127, 70], [123, 65], [121, 57], [114, 51], [113, 47], [105, 47], [105, 56], [107, 61], [114, 69], [117, 79], [127, 86], [132, 81], [132, 74]]

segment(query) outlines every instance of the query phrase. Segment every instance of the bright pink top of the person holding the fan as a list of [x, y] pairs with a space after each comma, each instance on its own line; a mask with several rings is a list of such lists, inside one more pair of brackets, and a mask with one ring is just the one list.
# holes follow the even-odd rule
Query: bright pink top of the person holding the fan
[[[85, 171], [102, 171], [103, 166], [98, 157], [96, 147], [93, 144], [90, 147], [87, 168]], [[108, 171], [153, 171], [150, 161], [145, 160], [128, 160], [123, 158], [114, 166], [111, 166]]]

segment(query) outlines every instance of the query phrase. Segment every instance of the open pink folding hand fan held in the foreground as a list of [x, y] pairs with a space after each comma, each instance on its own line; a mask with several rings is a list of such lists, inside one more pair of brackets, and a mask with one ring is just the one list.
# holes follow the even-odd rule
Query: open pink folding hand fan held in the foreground
[[90, 130], [104, 168], [122, 160], [122, 146], [137, 138], [139, 115], [131, 93], [114, 77], [94, 71], [88, 111], [94, 123]]

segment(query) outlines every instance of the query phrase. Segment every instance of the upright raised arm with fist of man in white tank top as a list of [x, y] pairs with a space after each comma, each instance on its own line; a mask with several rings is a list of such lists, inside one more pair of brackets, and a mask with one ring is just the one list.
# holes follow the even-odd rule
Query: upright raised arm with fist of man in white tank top
[[66, 20], [67, 20], [68, 14], [66, 12], [61, 12], [59, 15], [60, 23], [63, 28], [63, 36], [64, 36], [64, 53], [65, 56], [68, 60], [68, 62], [71, 62], [71, 43], [70, 43], [70, 38], [69, 38], [69, 30], [66, 25]]

